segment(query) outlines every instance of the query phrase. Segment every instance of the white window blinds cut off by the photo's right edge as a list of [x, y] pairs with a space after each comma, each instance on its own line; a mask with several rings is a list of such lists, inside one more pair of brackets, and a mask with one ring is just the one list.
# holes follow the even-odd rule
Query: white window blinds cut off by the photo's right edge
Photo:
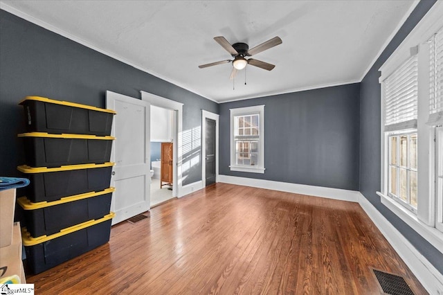
[[443, 124], [443, 29], [431, 39], [428, 125]]

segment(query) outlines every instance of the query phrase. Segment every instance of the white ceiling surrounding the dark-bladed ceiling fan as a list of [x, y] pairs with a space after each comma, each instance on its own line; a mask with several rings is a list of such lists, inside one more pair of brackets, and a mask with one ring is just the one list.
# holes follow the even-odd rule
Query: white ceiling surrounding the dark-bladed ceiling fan
[[[225, 102], [359, 82], [417, 1], [3, 1], [1, 8], [201, 96]], [[233, 81], [230, 59], [214, 41], [252, 48]], [[143, 89], [149, 91], [149, 89]]]

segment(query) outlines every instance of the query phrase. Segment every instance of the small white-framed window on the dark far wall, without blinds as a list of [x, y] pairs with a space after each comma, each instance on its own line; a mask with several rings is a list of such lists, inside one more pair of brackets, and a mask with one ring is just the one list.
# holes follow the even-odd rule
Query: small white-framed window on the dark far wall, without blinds
[[264, 105], [230, 109], [230, 170], [264, 173]]

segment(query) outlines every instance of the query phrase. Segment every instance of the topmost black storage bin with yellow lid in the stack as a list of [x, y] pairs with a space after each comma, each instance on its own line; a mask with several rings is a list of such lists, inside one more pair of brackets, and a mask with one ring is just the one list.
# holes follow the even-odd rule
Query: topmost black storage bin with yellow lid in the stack
[[26, 96], [24, 106], [27, 132], [111, 134], [115, 111], [73, 102]]

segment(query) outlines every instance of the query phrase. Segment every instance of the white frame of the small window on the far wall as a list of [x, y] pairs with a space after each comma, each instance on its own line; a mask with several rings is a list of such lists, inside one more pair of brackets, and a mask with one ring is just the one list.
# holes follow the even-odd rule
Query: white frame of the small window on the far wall
[[[264, 105], [253, 107], [239, 107], [230, 109], [230, 170], [239, 172], [264, 173]], [[256, 166], [241, 166], [235, 163], [235, 117], [258, 114], [259, 116], [259, 143], [258, 162]]]

